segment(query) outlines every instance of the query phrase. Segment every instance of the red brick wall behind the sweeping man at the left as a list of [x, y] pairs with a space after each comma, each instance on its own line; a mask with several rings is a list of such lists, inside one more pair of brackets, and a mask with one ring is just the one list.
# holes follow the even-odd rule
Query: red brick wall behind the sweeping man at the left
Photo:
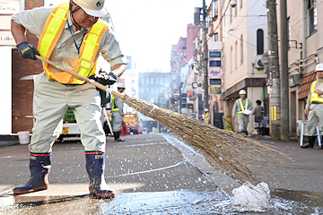
[[[42, 5], [44, 5], [43, 0], [25, 1], [26, 10]], [[37, 47], [38, 39], [36, 36], [28, 32], [26, 38], [32, 46]], [[24, 59], [19, 56], [16, 48], [13, 49], [13, 133], [31, 131], [33, 125], [32, 117], [27, 117], [32, 116], [33, 82], [19, 81], [19, 79], [42, 71], [39, 60]]]

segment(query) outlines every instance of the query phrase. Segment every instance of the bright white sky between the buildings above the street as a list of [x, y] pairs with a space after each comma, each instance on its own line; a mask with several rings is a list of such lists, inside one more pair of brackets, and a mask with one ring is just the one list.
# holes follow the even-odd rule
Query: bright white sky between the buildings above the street
[[[66, 1], [45, 0], [45, 5]], [[202, 7], [202, 0], [106, 0], [106, 4], [124, 55], [132, 56], [136, 70], [169, 73], [171, 45], [187, 37], [194, 8]]]

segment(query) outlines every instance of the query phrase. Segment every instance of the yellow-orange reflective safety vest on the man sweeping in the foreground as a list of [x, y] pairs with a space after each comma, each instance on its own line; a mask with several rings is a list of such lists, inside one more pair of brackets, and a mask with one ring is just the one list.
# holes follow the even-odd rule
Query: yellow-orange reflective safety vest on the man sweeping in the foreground
[[[44, 30], [39, 38], [39, 54], [49, 59], [57, 41], [64, 30], [65, 22], [69, 14], [69, 4], [59, 4], [49, 15], [45, 23]], [[79, 59], [74, 66], [74, 73], [79, 73], [83, 77], [90, 77], [96, 72], [95, 56], [99, 51], [100, 39], [109, 29], [107, 22], [99, 20], [96, 22], [83, 39], [80, 48]], [[72, 74], [60, 72], [55, 73], [48, 65], [43, 62], [43, 67], [48, 79], [56, 80], [61, 83], [83, 84], [84, 81], [75, 79]]]

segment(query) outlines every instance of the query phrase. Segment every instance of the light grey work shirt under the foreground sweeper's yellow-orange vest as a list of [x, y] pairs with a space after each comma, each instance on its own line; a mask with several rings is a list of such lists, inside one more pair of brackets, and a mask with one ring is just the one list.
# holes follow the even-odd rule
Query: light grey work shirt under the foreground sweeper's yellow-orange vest
[[[44, 29], [45, 22], [54, 8], [55, 7], [37, 7], [28, 11], [15, 13], [12, 16], [12, 20], [22, 25], [26, 30], [31, 31], [31, 33], [35, 34], [37, 37], [40, 37]], [[68, 29], [68, 25], [70, 26], [72, 33]], [[70, 15], [68, 15], [65, 28], [60, 35], [57, 44], [49, 57], [49, 60], [55, 64], [73, 70], [76, 61], [79, 58], [78, 50], [74, 44], [74, 39], [77, 46], [80, 46], [82, 44], [84, 35], [88, 31], [89, 29], [87, 28], [76, 30], [73, 22], [71, 21]], [[127, 58], [122, 54], [118, 40], [110, 28], [100, 39], [99, 52], [97, 53], [94, 62], [96, 62], [100, 54], [109, 62], [111, 66], [115, 64], [127, 64]], [[55, 72], [61, 72], [53, 67], [51, 67], [51, 69], [53, 69]]]

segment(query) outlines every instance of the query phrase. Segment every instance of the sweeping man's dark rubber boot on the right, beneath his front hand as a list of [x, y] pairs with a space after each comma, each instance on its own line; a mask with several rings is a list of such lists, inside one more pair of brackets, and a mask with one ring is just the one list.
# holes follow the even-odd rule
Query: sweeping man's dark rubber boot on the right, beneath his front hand
[[104, 179], [105, 153], [86, 151], [86, 170], [90, 178], [90, 194], [100, 198], [114, 197], [115, 193], [109, 188]]

